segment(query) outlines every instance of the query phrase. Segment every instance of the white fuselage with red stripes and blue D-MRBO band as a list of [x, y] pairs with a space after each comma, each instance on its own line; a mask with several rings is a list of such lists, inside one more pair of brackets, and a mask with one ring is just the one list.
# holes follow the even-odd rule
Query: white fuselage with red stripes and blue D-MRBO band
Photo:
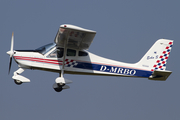
[[[15, 61], [28, 69], [40, 69], [59, 73], [63, 64], [62, 56], [55, 44], [44, 46], [45, 52], [38, 50], [15, 50]], [[63, 54], [63, 51], [61, 51]], [[128, 67], [129, 66], [129, 67]], [[67, 49], [65, 71], [67, 74], [92, 74], [108, 76], [149, 77], [152, 71], [138, 68], [136, 64], [127, 64], [103, 58], [88, 51]]]

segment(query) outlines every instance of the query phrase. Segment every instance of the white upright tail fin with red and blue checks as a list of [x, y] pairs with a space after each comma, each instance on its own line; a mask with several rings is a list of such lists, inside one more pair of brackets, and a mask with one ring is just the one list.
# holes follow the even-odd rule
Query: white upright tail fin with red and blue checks
[[138, 67], [143, 67], [151, 71], [165, 71], [167, 59], [171, 52], [173, 40], [159, 39], [148, 50], [148, 52], [137, 63]]

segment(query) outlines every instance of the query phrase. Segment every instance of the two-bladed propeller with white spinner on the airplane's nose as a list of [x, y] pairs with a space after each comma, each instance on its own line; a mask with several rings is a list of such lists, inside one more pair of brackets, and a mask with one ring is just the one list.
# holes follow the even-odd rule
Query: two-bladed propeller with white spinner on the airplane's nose
[[12, 56], [14, 55], [13, 46], [14, 46], [14, 32], [12, 33], [10, 51], [7, 52], [7, 54], [10, 56], [10, 60], [9, 60], [9, 72], [8, 72], [8, 74], [10, 73], [10, 70], [11, 70]]

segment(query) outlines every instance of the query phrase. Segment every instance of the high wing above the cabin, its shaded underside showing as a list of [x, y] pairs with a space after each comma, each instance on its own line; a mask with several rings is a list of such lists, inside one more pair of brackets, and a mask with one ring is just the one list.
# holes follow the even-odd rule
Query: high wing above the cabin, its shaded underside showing
[[86, 50], [91, 45], [96, 31], [84, 29], [74, 25], [61, 25], [54, 42], [59, 47]]

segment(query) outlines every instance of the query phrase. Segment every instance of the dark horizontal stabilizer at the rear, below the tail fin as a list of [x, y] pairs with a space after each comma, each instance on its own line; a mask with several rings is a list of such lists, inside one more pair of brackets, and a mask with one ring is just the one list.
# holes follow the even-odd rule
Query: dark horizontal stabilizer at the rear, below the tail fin
[[165, 81], [171, 73], [172, 71], [168, 71], [168, 70], [165, 70], [165, 71], [155, 70], [148, 79], [157, 80], [157, 81]]

